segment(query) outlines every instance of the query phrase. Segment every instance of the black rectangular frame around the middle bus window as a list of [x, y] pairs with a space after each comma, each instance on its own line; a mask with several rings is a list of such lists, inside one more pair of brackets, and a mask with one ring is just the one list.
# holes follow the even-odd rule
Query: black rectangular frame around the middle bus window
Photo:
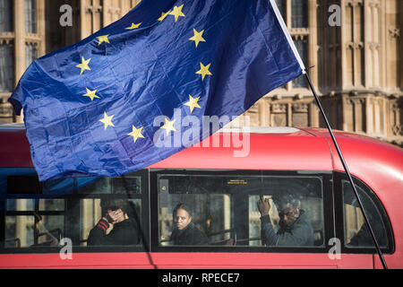
[[[299, 176], [322, 177], [323, 245], [320, 247], [248, 247], [248, 246], [159, 246], [159, 190], [158, 175], [243, 175], [243, 176]], [[322, 253], [327, 254], [330, 238], [334, 238], [333, 188], [331, 171], [313, 170], [150, 170], [150, 224], [151, 250], [153, 252], [227, 252], [227, 253]], [[234, 200], [234, 199], [232, 199]], [[231, 204], [233, 206], [233, 204]]]

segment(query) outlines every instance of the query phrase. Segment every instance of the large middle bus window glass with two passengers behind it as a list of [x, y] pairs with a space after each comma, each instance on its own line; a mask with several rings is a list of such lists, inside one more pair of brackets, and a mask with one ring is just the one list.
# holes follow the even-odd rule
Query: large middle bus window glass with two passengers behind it
[[[172, 171], [174, 172], [174, 171]], [[255, 175], [253, 175], [253, 173]], [[159, 247], [176, 245], [227, 247], [324, 247], [323, 184], [321, 176], [270, 176], [265, 172], [189, 171], [157, 173], [159, 190]], [[284, 173], [284, 172], [283, 172]], [[294, 172], [294, 174], [296, 174]], [[270, 222], [277, 242], [270, 244], [262, 229], [263, 221], [257, 203], [261, 196], [270, 202]], [[285, 198], [294, 198], [294, 226], [285, 226]], [[282, 204], [283, 203], [283, 204]], [[184, 204], [184, 221], [191, 218], [191, 229], [208, 241], [177, 239]], [[290, 216], [288, 215], [288, 218]], [[288, 222], [288, 221], [287, 221]], [[303, 226], [304, 241], [292, 239]], [[298, 227], [298, 229], [295, 229]], [[306, 228], [305, 228], [306, 227]], [[294, 232], [293, 232], [294, 228]], [[201, 231], [201, 232], [200, 232]], [[287, 233], [285, 236], [284, 234]], [[298, 236], [298, 235], [297, 235]], [[284, 241], [281, 238], [291, 238]], [[280, 238], [280, 239], [278, 239]]]

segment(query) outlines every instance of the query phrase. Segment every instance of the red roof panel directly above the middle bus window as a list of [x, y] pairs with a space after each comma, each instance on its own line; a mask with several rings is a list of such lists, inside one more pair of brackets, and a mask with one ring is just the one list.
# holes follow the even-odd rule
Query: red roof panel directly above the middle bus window
[[[326, 138], [297, 128], [258, 128], [250, 133], [221, 132], [199, 145], [150, 166], [156, 169], [333, 170]], [[219, 146], [212, 137], [219, 137]], [[245, 138], [249, 136], [249, 139]], [[240, 138], [240, 147], [234, 144]], [[225, 144], [230, 143], [230, 144]], [[242, 152], [244, 150], [244, 152]], [[240, 156], [236, 157], [236, 152]], [[242, 154], [244, 153], [244, 154]], [[244, 156], [243, 156], [244, 155]]]

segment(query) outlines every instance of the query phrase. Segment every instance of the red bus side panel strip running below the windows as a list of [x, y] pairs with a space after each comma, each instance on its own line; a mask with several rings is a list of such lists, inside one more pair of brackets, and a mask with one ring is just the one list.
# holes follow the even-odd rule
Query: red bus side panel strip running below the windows
[[73, 254], [61, 259], [59, 254], [13, 254], [0, 256], [0, 268], [373, 268], [372, 255], [342, 254], [330, 259], [328, 254], [281, 253], [103, 253]]

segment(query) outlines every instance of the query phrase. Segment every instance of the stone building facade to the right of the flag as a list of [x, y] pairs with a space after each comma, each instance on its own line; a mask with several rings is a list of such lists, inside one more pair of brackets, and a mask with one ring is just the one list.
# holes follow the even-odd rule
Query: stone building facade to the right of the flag
[[[277, 2], [305, 65], [312, 67], [330, 126], [401, 146], [403, 1]], [[339, 25], [330, 25], [337, 11], [332, 5], [339, 8]], [[324, 126], [302, 79], [271, 91], [245, 114], [253, 126]]]

